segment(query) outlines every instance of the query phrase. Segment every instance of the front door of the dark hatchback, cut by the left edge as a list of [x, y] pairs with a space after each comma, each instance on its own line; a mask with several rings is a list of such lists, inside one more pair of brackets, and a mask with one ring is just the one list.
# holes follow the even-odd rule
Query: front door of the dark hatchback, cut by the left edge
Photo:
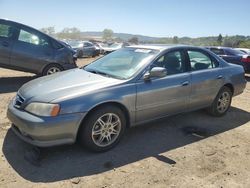
[[16, 30], [7, 22], [0, 22], [0, 65], [10, 66], [10, 55]]

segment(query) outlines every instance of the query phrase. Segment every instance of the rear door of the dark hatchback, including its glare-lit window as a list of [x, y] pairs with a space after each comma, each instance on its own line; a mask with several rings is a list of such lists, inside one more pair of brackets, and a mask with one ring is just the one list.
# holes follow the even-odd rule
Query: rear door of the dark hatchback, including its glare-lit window
[[10, 63], [22, 70], [40, 73], [54, 61], [54, 48], [49, 38], [29, 29], [20, 28], [14, 43]]

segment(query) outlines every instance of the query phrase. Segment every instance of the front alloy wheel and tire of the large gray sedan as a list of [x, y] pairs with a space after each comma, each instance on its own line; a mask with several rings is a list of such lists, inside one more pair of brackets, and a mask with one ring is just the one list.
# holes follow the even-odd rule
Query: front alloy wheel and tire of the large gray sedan
[[91, 151], [104, 152], [118, 144], [125, 127], [123, 111], [116, 106], [104, 106], [91, 112], [83, 122], [79, 141]]

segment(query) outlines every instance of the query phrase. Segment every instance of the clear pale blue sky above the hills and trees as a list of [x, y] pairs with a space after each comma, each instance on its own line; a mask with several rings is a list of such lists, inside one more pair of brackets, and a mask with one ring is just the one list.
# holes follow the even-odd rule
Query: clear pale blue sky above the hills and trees
[[0, 18], [56, 31], [153, 37], [250, 35], [250, 0], [0, 0]]

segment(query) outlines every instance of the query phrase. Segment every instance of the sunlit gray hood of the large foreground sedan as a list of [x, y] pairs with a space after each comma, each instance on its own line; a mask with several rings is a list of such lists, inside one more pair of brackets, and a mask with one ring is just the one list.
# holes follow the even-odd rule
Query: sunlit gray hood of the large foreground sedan
[[24, 84], [18, 93], [26, 101], [58, 102], [122, 82], [124, 80], [72, 69], [32, 80]]

